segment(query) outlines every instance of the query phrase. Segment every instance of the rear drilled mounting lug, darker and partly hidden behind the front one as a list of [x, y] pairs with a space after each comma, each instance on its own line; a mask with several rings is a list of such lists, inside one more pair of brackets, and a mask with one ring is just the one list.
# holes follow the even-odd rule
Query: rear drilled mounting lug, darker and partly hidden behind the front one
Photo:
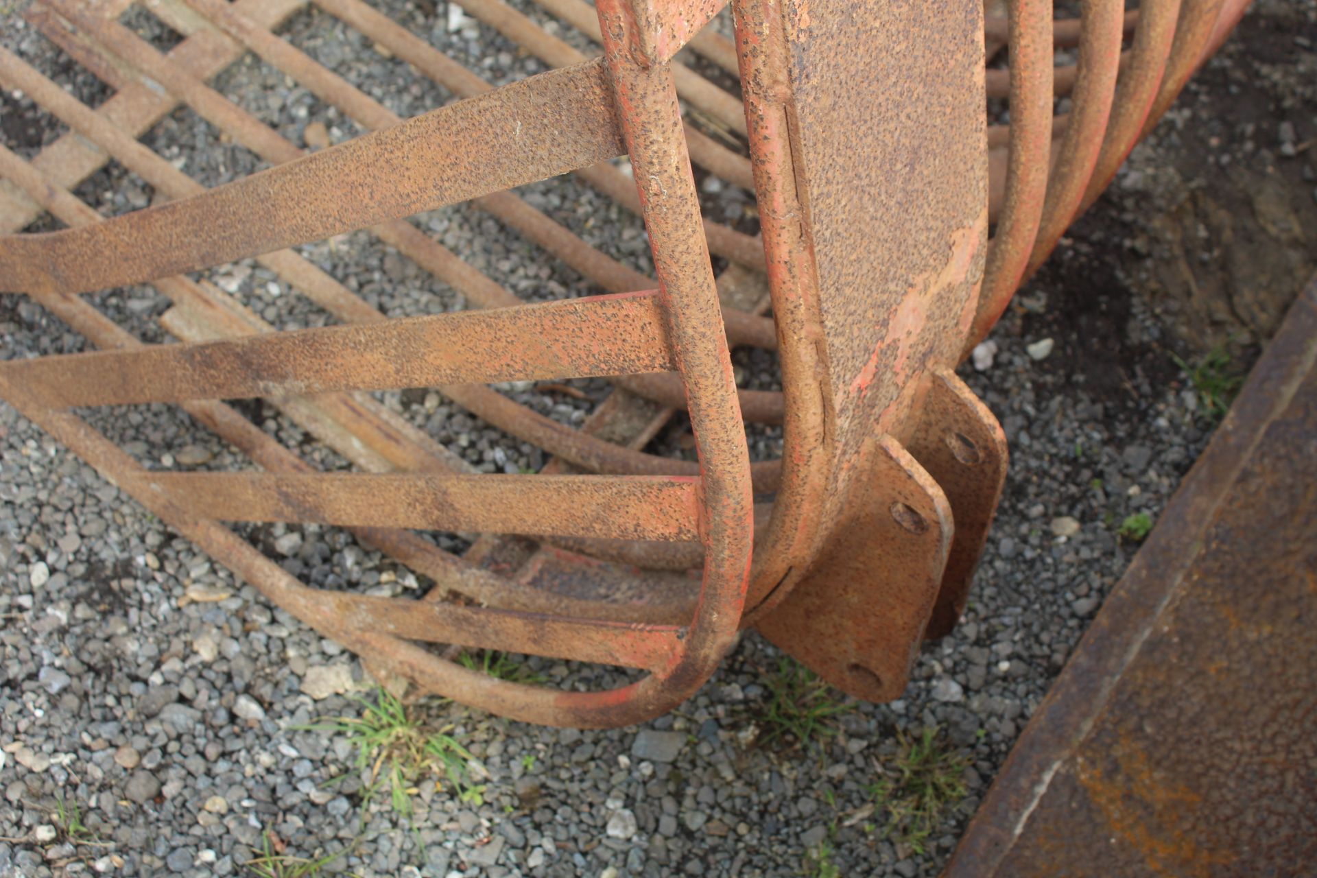
[[997, 419], [950, 369], [931, 370], [909, 441], [910, 454], [947, 495], [956, 536], [951, 541], [938, 603], [925, 632], [951, 633], [965, 609], [1006, 482], [1006, 436]]

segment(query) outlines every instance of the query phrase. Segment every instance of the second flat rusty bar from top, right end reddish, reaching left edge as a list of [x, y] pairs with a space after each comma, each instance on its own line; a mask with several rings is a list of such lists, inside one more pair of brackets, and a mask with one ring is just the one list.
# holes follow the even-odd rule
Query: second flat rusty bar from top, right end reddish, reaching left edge
[[662, 371], [657, 294], [323, 326], [198, 345], [7, 361], [45, 404], [130, 405]]

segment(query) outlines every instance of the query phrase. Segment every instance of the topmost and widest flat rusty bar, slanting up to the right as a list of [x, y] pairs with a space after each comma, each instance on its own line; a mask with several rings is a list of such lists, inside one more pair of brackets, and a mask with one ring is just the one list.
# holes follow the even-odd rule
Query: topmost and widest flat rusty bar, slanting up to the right
[[602, 63], [554, 70], [205, 195], [82, 229], [0, 238], [0, 291], [141, 283], [541, 180], [622, 151]]

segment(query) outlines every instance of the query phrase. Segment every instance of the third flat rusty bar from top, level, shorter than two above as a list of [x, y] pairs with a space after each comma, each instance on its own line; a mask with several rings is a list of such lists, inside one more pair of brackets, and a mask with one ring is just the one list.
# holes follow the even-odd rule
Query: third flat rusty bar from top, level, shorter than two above
[[137, 478], [194, 515], [220, 521], [610, 540], [699, 537], [695, 478], [161, 471]]

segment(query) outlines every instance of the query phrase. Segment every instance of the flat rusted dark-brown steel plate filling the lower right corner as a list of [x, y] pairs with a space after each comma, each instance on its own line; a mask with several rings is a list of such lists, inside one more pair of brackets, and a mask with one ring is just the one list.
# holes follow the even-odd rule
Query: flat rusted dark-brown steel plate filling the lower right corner
[[1317, 278], [1011, 750], [947, 870], [1317, 864]]

